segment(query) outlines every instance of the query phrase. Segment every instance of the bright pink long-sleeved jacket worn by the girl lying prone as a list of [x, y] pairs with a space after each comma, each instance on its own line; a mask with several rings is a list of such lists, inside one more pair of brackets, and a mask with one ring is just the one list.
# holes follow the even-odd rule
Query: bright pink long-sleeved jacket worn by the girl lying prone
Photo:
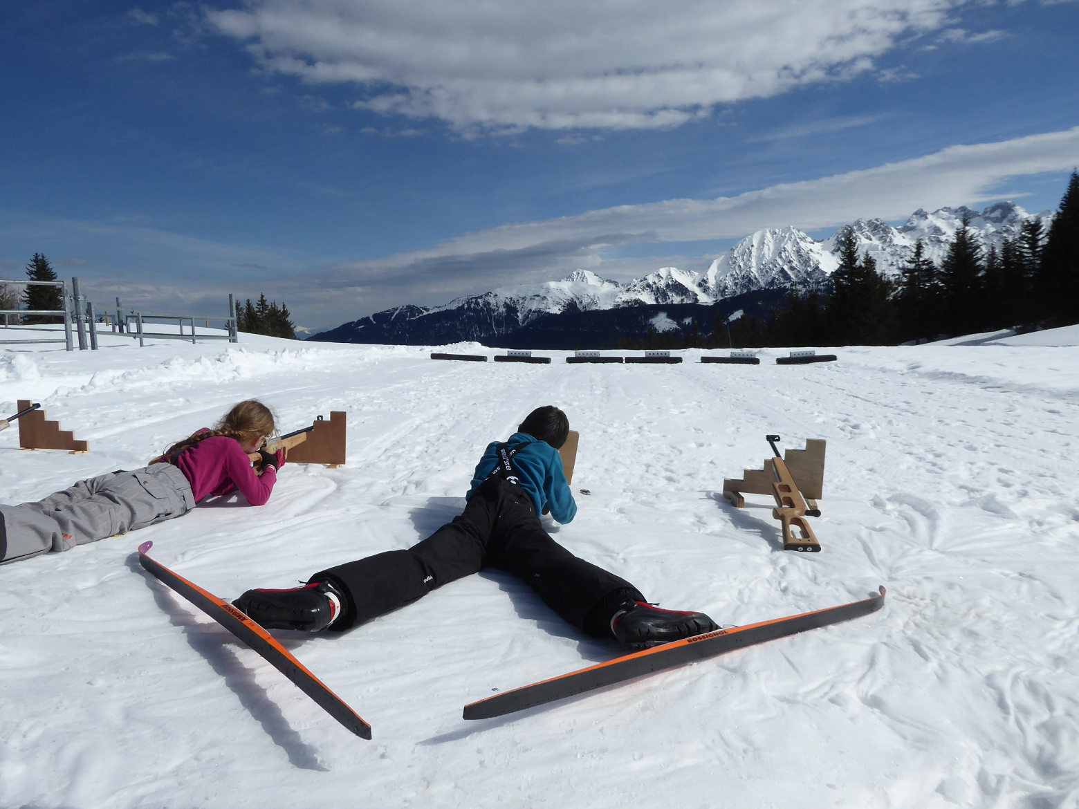
[[[285, 463], [283, 455], [283, 452], [277, 453], [279, 465]], [[256, 475], [240, 441], [228, 436], [204, 438], [181, 452], [176, 466], [191, 483], [195, 503], [238, 490], [252, 506], [262, 506], [277, 482], [277, 472], [272, 466], [268, 466], [261, 477]]]

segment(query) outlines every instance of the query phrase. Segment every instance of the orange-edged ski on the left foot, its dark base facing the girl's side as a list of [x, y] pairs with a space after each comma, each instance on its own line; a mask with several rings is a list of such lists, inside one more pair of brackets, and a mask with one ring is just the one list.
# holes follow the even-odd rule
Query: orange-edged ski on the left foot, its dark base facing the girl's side
[[232, 604], [193, 585], [161, 562], [147, 556], [153, 543], [142, 543], [138, 547], [139, 563], [156, 578], [168, 585], [206, 615], [216, 620], [236, 637], [259, 653], [271, 666], [292, 681], [301, 691], [334, 719], [344, 725], [360, 739], [371, 738], [371, 726], [359, 714], [349, 708], [333, 691], [292, 657], [291, 653], [277, 643], [273, 635], [248, 618]]

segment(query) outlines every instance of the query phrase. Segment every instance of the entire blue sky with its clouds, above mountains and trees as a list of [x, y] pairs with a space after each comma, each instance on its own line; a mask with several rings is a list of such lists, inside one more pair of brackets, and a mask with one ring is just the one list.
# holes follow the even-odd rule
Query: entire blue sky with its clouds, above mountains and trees
[[1079, 2], [3, 1], [0, 275], [326, 328], [1079, 164]]

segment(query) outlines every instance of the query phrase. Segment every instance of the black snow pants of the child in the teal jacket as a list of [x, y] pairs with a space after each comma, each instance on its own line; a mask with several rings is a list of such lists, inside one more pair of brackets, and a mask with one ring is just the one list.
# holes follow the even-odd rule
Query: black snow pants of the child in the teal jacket
[[422, 543], [330, 567], [309, 580], [343, 590], [347, 603], [330, 627], [343, 631], [484, 567], [514, 574], [558, 615], [597, 637], [611, 636], [609, 622], [620, 604], [644, 601], [625, 579], [556, 543], [529, 494], [497, 476], [483, 481], [460, 517]]

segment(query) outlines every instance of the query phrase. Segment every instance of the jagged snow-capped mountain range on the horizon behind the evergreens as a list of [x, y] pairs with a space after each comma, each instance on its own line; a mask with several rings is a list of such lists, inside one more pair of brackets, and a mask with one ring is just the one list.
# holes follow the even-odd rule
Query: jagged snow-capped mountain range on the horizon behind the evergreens
[[[407, 321], [433, 318], [442, 321], [453, 313], [468, 333], [461, 339], [480, 339], [465, 324], [483, 324], [482, 330], [505, 334], [542, 315], [590, 312], [642, 304], [712, 304], [756, 290], [821, 288], [839, 265], [842, 237], [853, 233], [859, 253], [869, 252], [877, 270], [897, 277], [914, 253], [918, 239], [925, 255], [940, 263], [955, 232], [969, 217], [970, 228], [986, 249], [1000, 247], [1006, 238], [1020, 234], [1023, 222], [1041, 220], [1048, 230], [1050, 210], [1028, 214], [1011, 202], [996, 203], [978, 212], [966, 206], [940, 208], [931, 214], [920, 208], [894, 228], [880, 219], [859, 219], [844, 225], [823, 242], [797, 228], [769, 228], [747, 236], [704, 272], [667, 266], [643, 278], [619, 283], [601, 278], [588, 270], [577, 270], [568, 278], [542, 284], [498, 287], [482, 294], [456, 298], [441, 306], [399, 306], [360, 318], [323, 332], [315, 340], [340, 342], [397, 342], [394, 335], [408, 330]], [[416, 324], [419, 326], [420, 324]]]

